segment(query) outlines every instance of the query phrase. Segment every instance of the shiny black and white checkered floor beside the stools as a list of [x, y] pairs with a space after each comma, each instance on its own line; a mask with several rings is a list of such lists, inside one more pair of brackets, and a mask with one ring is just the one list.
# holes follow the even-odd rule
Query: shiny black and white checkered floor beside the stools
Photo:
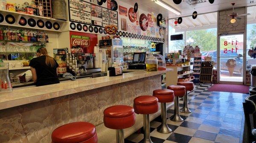
[[[241, 143], [244, 124], [242, 102], [248, 94], [210, 92], [210, 84], [197, 86], [189, 93], [188, 106], [192, 113], [180, 113], [182, 122], [173, 122], [169, 118], [174, 107], [167, 111], [167, 123], [173, 132], [161, 134], [157, 127], [161, 117], [151, 121], [151, 140], [154, 143]], [[180, 99], [180, 108], [183, 107]], [[143, 134], [134, 133], [125, 139], [125, 143], [141, 143]]]

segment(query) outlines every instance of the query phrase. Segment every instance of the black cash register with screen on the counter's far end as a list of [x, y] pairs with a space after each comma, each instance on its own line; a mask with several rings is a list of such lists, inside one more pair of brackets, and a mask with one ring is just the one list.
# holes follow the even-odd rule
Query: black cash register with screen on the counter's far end
[[134, 53], [132, 64], [128, 65], [128, 70], [145, 70], [146, 52]]

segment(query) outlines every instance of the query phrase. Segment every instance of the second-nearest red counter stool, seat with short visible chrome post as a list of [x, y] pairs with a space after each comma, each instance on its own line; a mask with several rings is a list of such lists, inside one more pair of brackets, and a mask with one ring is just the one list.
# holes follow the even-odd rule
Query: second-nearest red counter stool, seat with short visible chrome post
[[135, 124], [133, 107], [116, 105], [104, 110], [104, 125], [110, 129], [116, 129], [116, 143], [125, 143], [124, 129]]

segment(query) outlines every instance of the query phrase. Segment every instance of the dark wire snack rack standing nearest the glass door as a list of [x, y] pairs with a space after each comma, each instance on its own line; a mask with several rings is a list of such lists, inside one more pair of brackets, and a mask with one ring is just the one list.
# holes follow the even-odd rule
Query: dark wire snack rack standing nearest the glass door
[[202, 62], [200, 72], [200, 83], [208, 82], [212, 84], [213, 66], [213, 61]]

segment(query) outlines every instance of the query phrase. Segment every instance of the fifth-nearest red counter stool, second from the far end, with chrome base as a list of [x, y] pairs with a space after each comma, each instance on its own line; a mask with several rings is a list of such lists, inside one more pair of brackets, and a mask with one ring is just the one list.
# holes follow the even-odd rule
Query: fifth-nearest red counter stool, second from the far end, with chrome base
[[183, 118], [180, 117], [179, 113], [179, 97], [183, 97], [186, 94], [186, 87], [182, 85], [171, 85], [167, 89], [173, 90], [174, 92], [174, 115], [170, 118], [172, 121], [181, 122]]

